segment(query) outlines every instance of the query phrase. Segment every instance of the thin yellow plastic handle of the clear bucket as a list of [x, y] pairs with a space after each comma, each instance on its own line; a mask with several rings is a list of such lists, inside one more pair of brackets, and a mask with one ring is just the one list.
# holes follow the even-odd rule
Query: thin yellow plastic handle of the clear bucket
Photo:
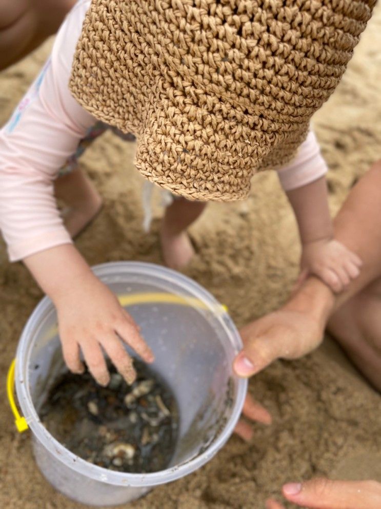
[[[133, 304], [153, 304], [153, 303], [167, 303], [167, 304], [179, 304], [183, 306], [192, 306], [194, 308], [203, 308], [209, 309], [208, 306], [203, 303], [202, 300], [197, 299], [196, 297], [181, 297], [179, 295], [174, 295], [171, 293], [135, 293], [133, 295], [119, 295], [119, 302], [121, 306], [132, 306]], [[218, 305], [218, 311], [226, 312], [227, 307]], [[8, 376], [7, 376], [7, 396], [9, 405], [14, 415], [14, 422], [16, 424], [17, 431], [22, 433], [26, 431], [29, 426], [25, 417], [22, 417], [17, 409], [15, 400], [14, 400], [14, 368], [16, 364], [16, 359], [13, 359], [11, 365], [9, 366]]]

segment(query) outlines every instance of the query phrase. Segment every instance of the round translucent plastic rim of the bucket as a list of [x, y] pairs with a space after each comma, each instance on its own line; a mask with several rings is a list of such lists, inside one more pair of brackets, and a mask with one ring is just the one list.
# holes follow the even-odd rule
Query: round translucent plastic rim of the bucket
[[[168, 269], [154, 263], [136, 261], [107, 262], [93, 266], [92, 270], [98, 277], [102, 277], [107, 276], [107, 273], [114, 273], [115, 269], [118, 268], [124, 269], [125, 272], [133, 272], [134, 274], [143, 271], [144, 275], [149, 276], [151, 274], [156, 277], [163, 276], [167, 280], [170, 279], [172, 282], [175, 282], [177, 285], [188, 290], [189, 293], [204, 301], [204, 303], [211, 309], [215, 309], [217, 306], [222, 308], [222, 305], [218, 302], [218, 300], [196, 281], [193, 281], [184, 274], [180, 274], [172, 269]], [[175, 481], [176, 479], [191, 474], [196, 469], [205, 465], [218, 452], [218, 450], [225, 445], [232, 435], [235, 425], [240, 417], [240, 413], [242, 412], [248, 387], [248, 381], [246, 379], [238, 378], [234, 375], [234, 373], [232, 373], [232, 376], [236, 380], [237, 384], [236, 398], [234, 400], [229, 419], [225, 423], [218, 437], [210, 444], [210, 446], [203, 453], [191, 458], [190, 460], [164, 470], [159, 470], [158, 472], [132, 474], [115, 472], [114, 470], [93, 465], [64, 447], [47, 431], [39, 420], [30, 395], [28, 383], [25, 380], [24, 374], [19, 369], [19, 360], [23, 359], [29, 352], [27, 348], [28, 336], [32, 332], [32, 327], [35, 327], [35, 320], [38, 316], [41, 317], [44, 311], [47, 312], [51, 305], [52, 301], [47, 296], [39, 301], [23, 329], [17, 347], [15, 385], [19, 405], [21, 406], [24, 416], [28, 422], [28, 426], [33, 433], [34, 439], [39, 440], [57, 460], [69, 466], [76, 472], [96, 481], [102, 481], [117, 486], [148, 487]], [[220, 322], [225, 328], [234, 351], [238, 353], [238, 351], [243, 347], [242, 339], [226, 311], [224, 311], [221, 315]]]

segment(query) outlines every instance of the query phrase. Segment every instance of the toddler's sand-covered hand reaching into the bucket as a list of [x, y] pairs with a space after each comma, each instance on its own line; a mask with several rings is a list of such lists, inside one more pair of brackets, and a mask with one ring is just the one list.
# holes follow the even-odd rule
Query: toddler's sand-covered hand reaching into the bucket
[[107, 286], [92, 273], [73, 285], [70, 292], [60, 295], [55, 305], [64, 359], [71, 371], [83, 372], [84, 365], [79, 359], [82, 350], [95, 380], [100, 385], [107, 385], [110, 375], [103, 349], [119, 373], [131, 384], [136, 373], [122, 341], [130, 345], [144, 361], [154, 360], [151, 349], [139, 334], [131, 316]]

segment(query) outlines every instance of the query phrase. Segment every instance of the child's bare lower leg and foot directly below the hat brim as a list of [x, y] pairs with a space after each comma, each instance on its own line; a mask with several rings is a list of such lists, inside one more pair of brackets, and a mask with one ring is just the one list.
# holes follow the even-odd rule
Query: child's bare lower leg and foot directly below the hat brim
[[163, 258], [168, 267], [181, 269], [191, 260], [194, 250], [187, 229], [202, 214], [205, 206], [206, 203], [200, 201], [178, 198], [167, 207], [160, 236]]

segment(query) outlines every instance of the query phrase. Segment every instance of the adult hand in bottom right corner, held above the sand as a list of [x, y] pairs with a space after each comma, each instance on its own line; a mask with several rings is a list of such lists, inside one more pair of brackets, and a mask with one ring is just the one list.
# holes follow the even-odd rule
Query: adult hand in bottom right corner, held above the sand
[[[296, 505], [311, 509], [379, 509], [381, 484], [376, 481], [331, 481], [313, 479], [283, 486], [284, 497]], [[266, 509], [285, 509], [270, 499]]]

